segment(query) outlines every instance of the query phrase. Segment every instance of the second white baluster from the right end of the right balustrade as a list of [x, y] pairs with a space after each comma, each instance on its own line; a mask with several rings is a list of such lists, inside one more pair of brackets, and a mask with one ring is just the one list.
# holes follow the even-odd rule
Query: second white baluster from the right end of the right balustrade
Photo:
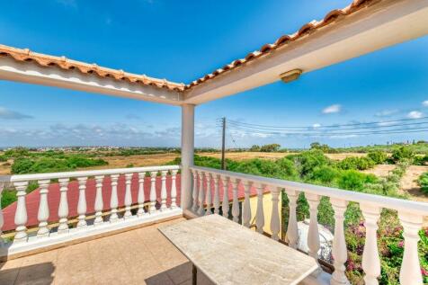
[[378, 220], [380, 208], [372, 205], [360, 204], [364, 227], [366, 227], [366, 241], [362, 252], [362, 269], [365, 272], [366, 285], [378, 285], [380, 275], [380, 259], [378, 250]]

